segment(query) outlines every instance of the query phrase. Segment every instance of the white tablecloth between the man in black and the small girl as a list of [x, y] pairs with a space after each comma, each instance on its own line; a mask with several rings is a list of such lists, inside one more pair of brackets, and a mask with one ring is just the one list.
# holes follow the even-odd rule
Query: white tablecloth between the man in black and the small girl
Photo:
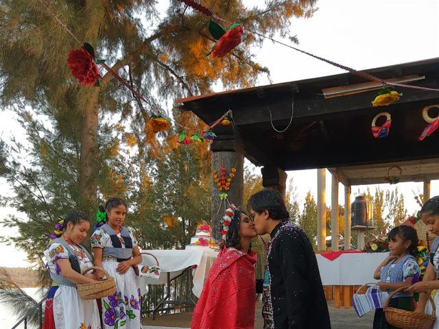
[[373, 278], [373, 273], [388, 255], [388, 252], [363, 252], [359, 254], [341, 254], [335, 260], [329, 260], [320, 254], [316, 254], [322, 284], [324, 286], [354, 286], [377, 282]]

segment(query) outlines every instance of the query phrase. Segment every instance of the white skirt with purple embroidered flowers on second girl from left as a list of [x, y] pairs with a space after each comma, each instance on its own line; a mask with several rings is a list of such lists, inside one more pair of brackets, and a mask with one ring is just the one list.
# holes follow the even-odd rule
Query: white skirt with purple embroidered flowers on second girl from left
[[116, 293], [102, 298], [104, 329], [141, 328], [141, 293], [132, 267], [125, 274], [117, 273], [119, 263], [104, 260], [104, 269], [116, 280]]

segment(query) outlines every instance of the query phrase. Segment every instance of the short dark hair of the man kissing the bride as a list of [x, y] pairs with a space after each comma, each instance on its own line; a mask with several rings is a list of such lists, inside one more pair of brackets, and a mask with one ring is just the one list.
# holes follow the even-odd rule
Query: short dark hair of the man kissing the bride
[[274, 188], [266, 188], [254, 193], [248, 199], [247, 208], [248, 210], [251, 208], [258, 213], [268, 210], [268, 217], [271, 219], [282, 219], [283, 221], [289, 219], [289, 213], [287, 207], [285, 207], [281, 192]]

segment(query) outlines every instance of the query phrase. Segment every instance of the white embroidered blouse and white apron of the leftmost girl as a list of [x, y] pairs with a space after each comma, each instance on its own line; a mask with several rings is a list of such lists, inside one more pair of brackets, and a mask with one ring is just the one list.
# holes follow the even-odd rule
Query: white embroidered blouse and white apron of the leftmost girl
[[[82, 249], [76, 245], [69, 245], [78, 258], [81, 271], [92, 267]], [[69, 259], [69, 254], [60, 243], [53, 243], [45, 250], [44, 256], [49, 271], [56, 273], [56, 260]], [[61, 272], [62, 275], [62, 272]], [[82, 300], [78, 296], [76, 287], [60, 284], [52, 304], [56, 329], [99, 329], [99, 310], [95, 300]]]

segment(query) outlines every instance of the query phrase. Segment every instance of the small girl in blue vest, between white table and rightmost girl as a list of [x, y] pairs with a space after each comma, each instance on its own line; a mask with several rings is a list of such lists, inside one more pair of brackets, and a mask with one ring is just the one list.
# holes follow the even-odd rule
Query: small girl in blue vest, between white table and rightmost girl
[[[392, 293], [401, 287], [410, 287], [419, 280], [420, 268], [414, 255], [418, 252], [418, 235], [411, 226], [396, 226], [389, 234], [390, 255], [375, 270], [374, 278], [380, 279], [379, 288]], [[414, 310], [412, 292], [396, 293], [389, 306], [402, 310]], [[396, 328], [385, 321], [383, 308], [375, 310], [374, 329]]]

